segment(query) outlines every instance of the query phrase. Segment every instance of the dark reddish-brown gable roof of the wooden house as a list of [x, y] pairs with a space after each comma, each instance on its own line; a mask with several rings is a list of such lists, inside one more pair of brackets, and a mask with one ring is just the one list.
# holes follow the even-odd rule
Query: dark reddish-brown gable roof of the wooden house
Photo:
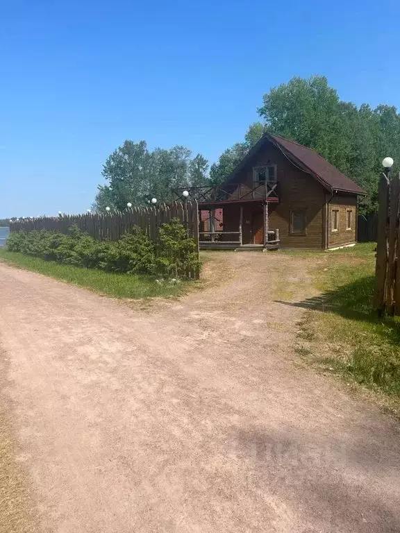
[[233, 178], [238, 173], [253, 155], [266, 142], [272, 142], [286, 158], [297, 167], [300, 167], [303, 171], [313, 175], [326, 189], [339, 192], [350, 192], [353, 194], [365, 194], [363, 189], [359, 187], [347, 176], [344, 176], [333, 164], [329, 163], [316, 151], [307, 148], [289, 139], [284, 139], [279, 135], [272, 135], [272, 133], [265, 133], [263, 137], [253, 146], [247, 156], [240, 162], [238, 167], [233, 171], [230, 178]]

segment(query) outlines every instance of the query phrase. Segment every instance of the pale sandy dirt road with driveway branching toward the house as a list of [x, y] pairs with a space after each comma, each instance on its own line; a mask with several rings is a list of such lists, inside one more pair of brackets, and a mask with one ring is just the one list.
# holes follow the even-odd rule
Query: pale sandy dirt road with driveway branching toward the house
[[274, 287], [310, 296], [306, 260], [208, 257], [206, 290], [149, 310], [0, 265], [42, 530], [400, 532], [398, 423], [292, 360]]

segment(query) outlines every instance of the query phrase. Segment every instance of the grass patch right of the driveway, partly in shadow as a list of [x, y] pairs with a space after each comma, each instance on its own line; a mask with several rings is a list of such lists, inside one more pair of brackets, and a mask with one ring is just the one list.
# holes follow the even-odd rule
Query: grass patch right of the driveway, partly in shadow
[[300, 339], [310, 341], [317, 362], [388, 396], [400, 398], [400, 320], [372, 309], [375, 243], [326, 253], [302, 253], [313, 262], [322, 294], [306, 307]]

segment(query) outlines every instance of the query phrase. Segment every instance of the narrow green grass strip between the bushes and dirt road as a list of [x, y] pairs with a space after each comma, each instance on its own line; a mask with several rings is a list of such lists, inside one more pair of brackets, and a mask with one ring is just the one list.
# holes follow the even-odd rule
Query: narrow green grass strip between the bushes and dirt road
[[9, 252], [3, 248], [0, 248], [0, 261], [115, 298], [179, 296], [188, 289], [188, 282], [172, 284], [164, 281], [158, 284], [154, 278], [149, 276], [83, 269], [68, 264], [44, 261], [22, 253]]

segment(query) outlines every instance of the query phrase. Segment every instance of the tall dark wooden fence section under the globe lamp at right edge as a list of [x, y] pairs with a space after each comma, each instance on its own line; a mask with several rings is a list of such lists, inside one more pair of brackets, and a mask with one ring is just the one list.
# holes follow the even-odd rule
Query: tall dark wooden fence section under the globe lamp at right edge
[[399, 176], [381, 175], [378, 190], [378, 239], [374, 307], [379, 314], [400, 314]]

